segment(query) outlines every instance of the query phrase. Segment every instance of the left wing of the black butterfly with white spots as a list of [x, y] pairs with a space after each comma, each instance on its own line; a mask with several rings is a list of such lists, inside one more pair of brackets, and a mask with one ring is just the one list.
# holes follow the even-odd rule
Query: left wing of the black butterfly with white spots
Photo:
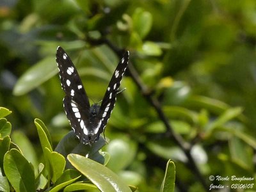
[[89, 99], [76, 67], [61, 47], [57, 48], [56, 62], [59, 68], [61, 87], [66, 94], [63, 99], [65, 113], [76, 136], [83, 143], [86, 143], [88, 127], [86, 127], [87, 122], [84, 120], [90, 118]]

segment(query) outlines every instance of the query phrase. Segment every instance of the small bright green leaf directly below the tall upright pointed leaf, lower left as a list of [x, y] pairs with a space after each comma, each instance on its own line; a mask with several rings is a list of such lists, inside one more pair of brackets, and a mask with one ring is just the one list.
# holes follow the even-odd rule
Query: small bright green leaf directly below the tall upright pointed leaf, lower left
[[65, 158], [57, 152], [51, 152], [49, 148], [45, 147], [44, 151], [46, 152], [47, 161], [49, 161], [50, 165], [51, 180], [55, 183], [64, 171], [66, 164]]

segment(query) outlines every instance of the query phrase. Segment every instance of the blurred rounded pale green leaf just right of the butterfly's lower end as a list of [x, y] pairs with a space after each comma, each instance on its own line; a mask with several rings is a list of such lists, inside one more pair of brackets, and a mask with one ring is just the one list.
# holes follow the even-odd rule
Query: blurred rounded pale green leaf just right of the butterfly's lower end
[[126, 168], [134, 160], [136, 154], [136, 144], [129, 140], [112, 140], [107, 146], [106, 151], [110, 155], [108, 168], [113, 172], [119, 172]]

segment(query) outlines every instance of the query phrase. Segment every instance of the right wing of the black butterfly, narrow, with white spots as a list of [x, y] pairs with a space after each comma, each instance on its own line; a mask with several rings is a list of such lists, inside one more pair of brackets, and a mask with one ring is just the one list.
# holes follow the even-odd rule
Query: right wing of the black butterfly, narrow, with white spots
[[116, 102], [116, 94], [118, 93], [118, 89], [120, 87], [122, 77], [124, 76], [124, 72], [127, 68], [129, 61], [129, 51], [125, 52], [124, 57], [118, 63], [113, 76], [108, 84], [108, 88], [106, 93], [102, 99], [102, 104], [100, 105], [99, 109], [99, 119], [100, 119], [100, 126], [99, 126], [99, 134], [104, 131], [108, 119], [112, 113], [112, 110], [115, 106]]

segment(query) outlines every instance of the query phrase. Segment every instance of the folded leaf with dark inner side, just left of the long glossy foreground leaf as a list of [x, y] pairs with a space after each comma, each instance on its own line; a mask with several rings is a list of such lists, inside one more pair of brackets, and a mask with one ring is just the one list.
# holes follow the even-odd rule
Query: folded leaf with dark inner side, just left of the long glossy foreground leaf
[[66, 170], [56, 181], [51, 189], [51, 192], [60, 191], [60, 189], [65, 188], [65, 186], [68, 186], [75, 180], [79, 179], [79, 177], [81, 177], [81, 174], [77, 172], [77, 170]]

